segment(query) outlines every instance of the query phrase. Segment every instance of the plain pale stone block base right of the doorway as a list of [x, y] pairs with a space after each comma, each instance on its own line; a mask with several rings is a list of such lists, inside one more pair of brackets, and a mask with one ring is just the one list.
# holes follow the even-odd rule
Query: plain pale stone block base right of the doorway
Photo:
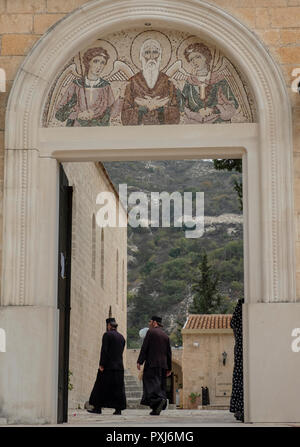
[[300, 352], [292, 350], [300, 303], [243, 310], [245, 422], [300, 422]]

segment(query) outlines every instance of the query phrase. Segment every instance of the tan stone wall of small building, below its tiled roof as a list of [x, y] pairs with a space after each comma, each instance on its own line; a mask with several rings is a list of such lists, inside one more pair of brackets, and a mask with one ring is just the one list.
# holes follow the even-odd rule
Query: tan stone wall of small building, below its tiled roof
[[[229, 329], [183, 333], [183, 406], [190, 407], [189, 395], [201, 395], [201, 387], [208, 387], [211, 405], [230, 403], [233, 373], [233, 332]], [[227, 353], [223, 365], [223, 352]], [[228, 392], [229, 391], [229, 392]], [[226, 392], [226, 396], [221, 394]]]

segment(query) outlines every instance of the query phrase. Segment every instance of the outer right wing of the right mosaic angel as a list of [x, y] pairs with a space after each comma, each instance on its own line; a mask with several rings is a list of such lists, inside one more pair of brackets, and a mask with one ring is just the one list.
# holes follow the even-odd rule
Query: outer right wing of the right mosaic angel
[[226, 79], [239, 104], [240, 114], [244, 116], [246, 122], [253, 122], [253, 111], [248, 95], [236, 69], [226, 57], [218, 58], [215, 62], [212, 73], [214, 82]]

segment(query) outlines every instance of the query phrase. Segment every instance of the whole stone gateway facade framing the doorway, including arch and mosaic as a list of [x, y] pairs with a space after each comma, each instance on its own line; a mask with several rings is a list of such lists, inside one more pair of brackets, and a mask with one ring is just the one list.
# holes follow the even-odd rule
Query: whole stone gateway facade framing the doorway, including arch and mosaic
[[0, 14], [0, 416], [57, 421], [59, 163], [237, 157], [245, 421], [299, 422], [299, 1], [0, 0]]

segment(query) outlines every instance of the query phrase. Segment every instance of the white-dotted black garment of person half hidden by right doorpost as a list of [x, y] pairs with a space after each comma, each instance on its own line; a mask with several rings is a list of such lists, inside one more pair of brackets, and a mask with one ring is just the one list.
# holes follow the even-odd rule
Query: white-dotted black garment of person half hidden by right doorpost
[[234, 366], [232, 377], [232, 393], [230, 399], [230, 411], [240, 413], [244, 417], [244, 382], [243, 382], [243, 315], [242, 300], [238, 300], [232, 315], [230, 326], [233, 329]]

